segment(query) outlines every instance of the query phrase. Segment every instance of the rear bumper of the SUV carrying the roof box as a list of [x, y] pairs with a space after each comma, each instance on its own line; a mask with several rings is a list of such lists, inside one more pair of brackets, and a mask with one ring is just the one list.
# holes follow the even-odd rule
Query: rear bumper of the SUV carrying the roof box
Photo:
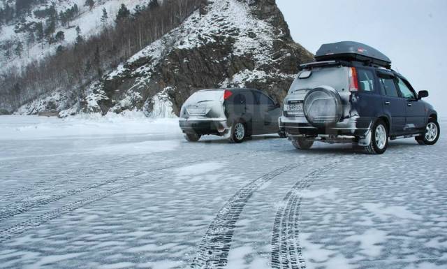
[[307, 122], [305, 117], [280, 117], [279, 129], [285, 131], [288, 136], [354, 136], [365, 138], [372, 126], [374, 119], [369, 117], [351, 117], [338, 122], [335, 126], [316, 128]]

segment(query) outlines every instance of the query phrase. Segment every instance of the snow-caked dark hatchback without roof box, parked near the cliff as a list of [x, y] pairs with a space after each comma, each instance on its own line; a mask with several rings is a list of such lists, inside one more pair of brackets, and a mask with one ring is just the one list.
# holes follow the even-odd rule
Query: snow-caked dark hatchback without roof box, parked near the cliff
[[186, 140], [217, 135], [240, 143], [251, 135], [279, 133], [281, 106], [257, 89], [204, 89], [180, 110], [179, 125]]

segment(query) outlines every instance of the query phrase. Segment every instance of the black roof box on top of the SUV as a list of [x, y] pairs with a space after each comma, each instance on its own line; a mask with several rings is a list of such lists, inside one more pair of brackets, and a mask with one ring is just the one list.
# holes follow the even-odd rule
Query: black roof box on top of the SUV
[[315, 54], [316, 61], [346, 60], [363, 61], [391, 68], [391, 60], [375, 48], [358, 42], [343, 41], [323, 44]]

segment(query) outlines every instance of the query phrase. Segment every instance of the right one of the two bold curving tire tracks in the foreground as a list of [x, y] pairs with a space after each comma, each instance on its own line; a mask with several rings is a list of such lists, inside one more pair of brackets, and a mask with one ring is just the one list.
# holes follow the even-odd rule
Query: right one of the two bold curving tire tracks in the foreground
[[305, 269], [299, 242], [299, 212], [302, 201], [302, 190], [307, 189], [314, 180], [321, 177], [341, 160], [332, 161], [321, 168], [313, 170], [298, 181], [283, 199], [274, 219], [272, 231], [272, 268]]

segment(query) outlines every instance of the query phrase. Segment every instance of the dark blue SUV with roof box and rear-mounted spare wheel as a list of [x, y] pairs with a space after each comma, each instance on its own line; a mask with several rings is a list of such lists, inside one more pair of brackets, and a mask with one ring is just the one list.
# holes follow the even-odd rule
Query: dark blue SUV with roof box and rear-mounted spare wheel
[[437, 142], [437, 112], [421, 100], [428, 92], [416, 94], [384, 54], [348, 41], [322, 45], [315, 59], [301, 65], [279, 119], [295, 147], [309, 149], [315, 140], [358, 143], [381, 154], [388, 138]]

